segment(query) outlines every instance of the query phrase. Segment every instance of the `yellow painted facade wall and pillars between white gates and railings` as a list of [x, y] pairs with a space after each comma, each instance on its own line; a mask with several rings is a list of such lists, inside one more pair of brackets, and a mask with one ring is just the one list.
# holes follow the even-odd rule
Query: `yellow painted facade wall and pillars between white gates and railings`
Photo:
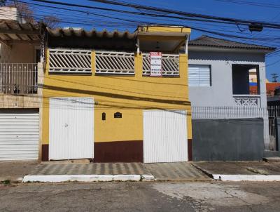
[[[48, 54], [47, 54], [48, 61]], [[94, 142], [143, 140], [143, 110], [188, 111], [188, 138], [191, 137], [190, 102], [188, 101], [187, 55], [180, 55], [180, 77], [143, 77], [142, 57], [135, 56], [135, 76], [48, 74], [43, 85], [42, 144], [49, 143], [49, 100], [51, 97], [94, 98]], [[106, 112], [106, 121], [102, 121]], [[121, 112], [122, 119], [113, 114]]]

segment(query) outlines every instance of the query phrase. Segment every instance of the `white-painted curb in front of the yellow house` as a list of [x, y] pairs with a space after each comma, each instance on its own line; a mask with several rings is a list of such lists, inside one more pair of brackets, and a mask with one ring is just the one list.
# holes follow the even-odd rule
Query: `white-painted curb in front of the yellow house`
[[61, 183], [61, 182], [109, 182], [109, 181], [152, 181], [153, 175], [25, 175], [22, 183]]

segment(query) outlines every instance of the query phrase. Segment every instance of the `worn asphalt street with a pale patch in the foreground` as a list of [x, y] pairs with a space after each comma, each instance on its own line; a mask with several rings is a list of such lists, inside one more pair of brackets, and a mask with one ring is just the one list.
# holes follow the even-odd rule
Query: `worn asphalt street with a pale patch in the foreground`
[[0, 185], [0, 211], [280, 211], [280, 183]]

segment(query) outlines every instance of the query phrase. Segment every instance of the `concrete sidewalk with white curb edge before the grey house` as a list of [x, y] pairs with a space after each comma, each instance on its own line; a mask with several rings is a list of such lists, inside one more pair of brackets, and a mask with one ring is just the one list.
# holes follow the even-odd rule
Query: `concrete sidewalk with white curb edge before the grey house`
[[223, 181], [280, 181], [280, 163], [264, 161], [209, 161], [193, 166], [214, 180]]

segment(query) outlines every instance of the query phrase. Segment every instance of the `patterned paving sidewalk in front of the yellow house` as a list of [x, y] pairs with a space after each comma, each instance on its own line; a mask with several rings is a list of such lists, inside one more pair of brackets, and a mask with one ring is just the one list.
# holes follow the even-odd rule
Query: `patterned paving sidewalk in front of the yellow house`
[[156, 180], [210, 180], [191, 163], [38, 164], [29, 175], [153, 175]]

